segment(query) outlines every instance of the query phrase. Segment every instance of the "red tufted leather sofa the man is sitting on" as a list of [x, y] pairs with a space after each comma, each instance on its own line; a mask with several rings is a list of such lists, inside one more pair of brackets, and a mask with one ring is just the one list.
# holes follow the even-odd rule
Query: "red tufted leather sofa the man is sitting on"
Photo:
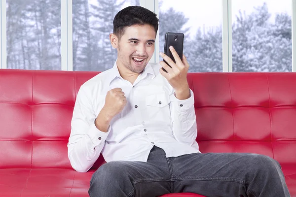
[[[0, 197], [88, 196], [104, 159], [76, 172], [67, 142], [79, 87], [96, 74], [0, 69]], [[189, 73], [188, 82], [201, 152], [270, 156], [296, 197], [296, 73]]]

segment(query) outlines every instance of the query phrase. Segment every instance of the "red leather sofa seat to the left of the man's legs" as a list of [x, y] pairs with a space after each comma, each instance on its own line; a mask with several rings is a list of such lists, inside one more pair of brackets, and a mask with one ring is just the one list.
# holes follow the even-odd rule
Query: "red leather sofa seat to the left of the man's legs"
[[0, 169], [1, 196], [88, 197], [93, 172], [59, 168]]

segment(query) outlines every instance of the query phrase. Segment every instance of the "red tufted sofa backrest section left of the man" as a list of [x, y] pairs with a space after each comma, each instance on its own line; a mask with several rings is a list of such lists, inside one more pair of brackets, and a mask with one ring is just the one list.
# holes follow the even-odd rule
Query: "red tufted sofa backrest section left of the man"
[[0, 168], [72, 168], [75, 98], [96, 74], [0, 69]]

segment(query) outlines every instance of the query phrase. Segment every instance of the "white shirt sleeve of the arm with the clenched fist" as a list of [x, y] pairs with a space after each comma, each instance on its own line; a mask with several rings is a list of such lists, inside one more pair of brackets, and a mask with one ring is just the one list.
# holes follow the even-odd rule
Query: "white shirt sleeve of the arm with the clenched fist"
[[88, 93], [83, 85], [78, 91], [68, 142], [70, 163], [79, 172], [88, 171], [97, 161], [111, 130], [109, 126], [108, 132], [102, 132], [95, 126], [96, 115]]

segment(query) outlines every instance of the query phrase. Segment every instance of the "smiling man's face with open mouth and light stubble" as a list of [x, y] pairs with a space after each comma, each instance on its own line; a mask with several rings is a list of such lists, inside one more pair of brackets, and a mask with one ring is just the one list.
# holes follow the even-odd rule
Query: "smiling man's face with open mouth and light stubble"
[[119, 64], [132, 72], [142, 72], [154, 53], [155, 37], [155, 30], [150, 25], [133, 25], [126, 28], [118, 41]]

